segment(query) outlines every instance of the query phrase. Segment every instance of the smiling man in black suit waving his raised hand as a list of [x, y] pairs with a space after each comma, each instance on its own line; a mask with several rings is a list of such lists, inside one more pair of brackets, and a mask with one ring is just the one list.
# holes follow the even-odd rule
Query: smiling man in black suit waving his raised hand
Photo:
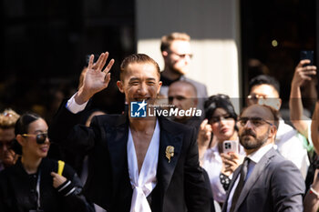
[[93, 64], [90, 57], [83, 85], [49, 128], [52, 141], [89, 154], [85, 195], [108, 212], [209, 211], [194, 129], [160, 116], [133, 117], [133, 103], [139, 102], [141, 113], [160, 92], [160, 68], [149, 56], [128, 56], [121, 64], [117, 85], [130, 115], [96, 116], [90, 127], [77, 125], [79, 111], [108, 86], [114, 60], [103, 70], [107, 58], [101, 54]]

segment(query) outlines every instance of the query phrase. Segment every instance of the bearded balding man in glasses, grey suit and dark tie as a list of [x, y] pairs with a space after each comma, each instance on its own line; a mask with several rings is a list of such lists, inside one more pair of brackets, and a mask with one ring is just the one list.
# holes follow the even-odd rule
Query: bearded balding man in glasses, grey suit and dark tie
[[223, 212], [303, 211], [304, 179], [273, 149], [278, 120], [270, 106], [243, 109], [239, 137], [247, 156], [233, 173]]

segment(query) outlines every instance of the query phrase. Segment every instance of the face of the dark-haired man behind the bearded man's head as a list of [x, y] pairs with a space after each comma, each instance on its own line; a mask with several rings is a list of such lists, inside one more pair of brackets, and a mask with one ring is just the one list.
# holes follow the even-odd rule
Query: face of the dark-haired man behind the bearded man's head
[[247, 106], [254, 104], [272, 106], [279, 111], [282, 105], [282, 99], [279, 97], [278, 92], [273, 86], [262, 84], [252, 86], [251, 93], [247, 98]]

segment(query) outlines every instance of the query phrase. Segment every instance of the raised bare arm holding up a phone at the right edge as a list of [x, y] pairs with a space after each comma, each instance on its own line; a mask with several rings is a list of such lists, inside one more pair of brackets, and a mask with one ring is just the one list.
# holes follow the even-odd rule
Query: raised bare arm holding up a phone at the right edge
[[303, 136], [308, 138], [308, 124], [305, 121], [304, 106], [300, 87], [305, 81], [311, 81], [312, 76], [316, 74], [316, 66], [304, 66], [310, 63], [310, 60], [302, 60], [294, 69], [292, 88], [289, 98], [290, 119], [293, 126]]

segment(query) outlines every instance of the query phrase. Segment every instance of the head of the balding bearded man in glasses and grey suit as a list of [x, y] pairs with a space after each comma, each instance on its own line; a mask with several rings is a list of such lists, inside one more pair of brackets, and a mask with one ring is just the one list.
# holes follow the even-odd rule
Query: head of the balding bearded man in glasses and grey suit
[[246, 150], [253, 152], [273, 142], [276, 128], [269, 108], [259, 105], [247, 107], [242, 112], [238, 126], [240, 142]]

